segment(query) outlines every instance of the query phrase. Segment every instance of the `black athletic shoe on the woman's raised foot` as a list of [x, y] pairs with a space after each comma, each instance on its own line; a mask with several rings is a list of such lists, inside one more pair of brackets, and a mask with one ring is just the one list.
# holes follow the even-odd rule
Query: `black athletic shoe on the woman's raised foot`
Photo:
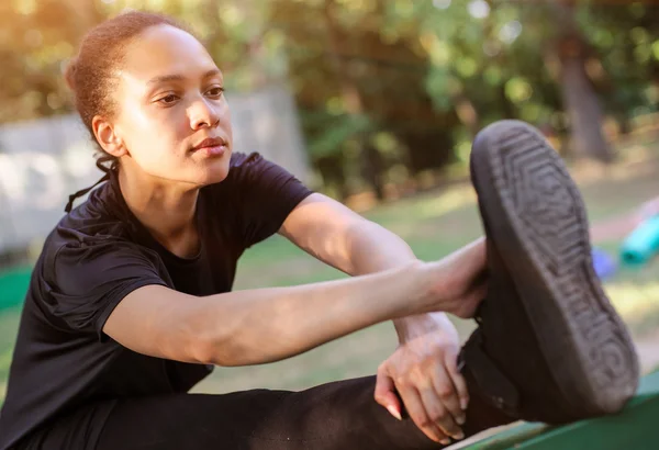
[[580, 192], [532, 126], [494, 123], [474, 139], [471, 177], [488, 239], [488, 297], [460, 355], [476, 395], [548, 424], [618, 412], [639, 369], [591, 259]]

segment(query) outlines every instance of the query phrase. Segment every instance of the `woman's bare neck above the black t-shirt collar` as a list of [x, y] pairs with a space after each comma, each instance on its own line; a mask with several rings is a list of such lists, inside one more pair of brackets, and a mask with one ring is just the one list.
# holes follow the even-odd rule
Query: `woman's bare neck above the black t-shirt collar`
[[163, 246], [180, 257], [198, 251], [199, 188], [127, 170], [119, 170], [119, 185], [131, 212]]

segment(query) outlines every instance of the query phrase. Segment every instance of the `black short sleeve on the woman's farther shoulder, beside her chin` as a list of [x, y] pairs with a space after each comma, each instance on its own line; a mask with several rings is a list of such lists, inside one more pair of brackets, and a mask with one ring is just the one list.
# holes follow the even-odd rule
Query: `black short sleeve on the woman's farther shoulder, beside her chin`
[[277, 233], [291, 211], [313, 193], [288, 170], [258, 153], [239, 155], [231, 170], [239, 199], [245, 248]]

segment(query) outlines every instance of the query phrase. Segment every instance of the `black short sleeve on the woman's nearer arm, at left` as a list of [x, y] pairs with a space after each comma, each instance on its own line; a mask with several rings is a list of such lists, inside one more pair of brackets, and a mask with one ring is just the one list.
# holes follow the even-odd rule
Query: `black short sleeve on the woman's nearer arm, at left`
[[71, 330], [97, 334], [100, 340], [105, 320], [129, 293], [148, 284], [168, 285], [155, 255], [121, 240], [63, 246], [47, 269], [51, 313]]

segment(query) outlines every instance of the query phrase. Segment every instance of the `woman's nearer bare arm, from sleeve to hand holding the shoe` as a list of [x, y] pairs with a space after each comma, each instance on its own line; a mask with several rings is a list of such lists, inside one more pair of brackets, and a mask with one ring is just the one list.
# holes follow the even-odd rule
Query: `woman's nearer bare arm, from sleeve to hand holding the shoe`
[[482, 244], [442, 261], [292, 288], [194, 297], [148, 285], [120, 302], [103, 331], [159, 358], [220, 365], [276, 361], [396, 317], [427, 311], [469, 316], [482, 294], [474, 286], [484, 266]]

